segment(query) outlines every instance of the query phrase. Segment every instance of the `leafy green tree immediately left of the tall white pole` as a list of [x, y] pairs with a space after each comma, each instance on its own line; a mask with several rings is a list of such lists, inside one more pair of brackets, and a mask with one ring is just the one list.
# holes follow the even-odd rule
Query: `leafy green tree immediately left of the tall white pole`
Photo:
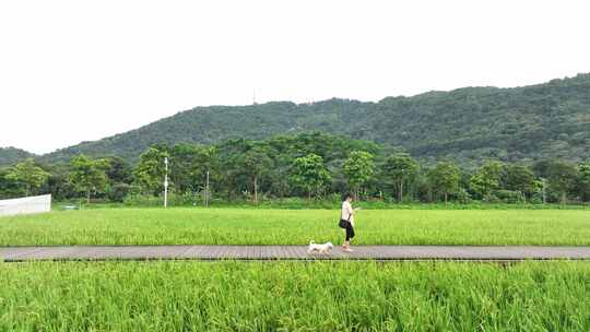
[[[141, 154], [140, 163], [133, 175], [143, 192], [157, 195], [163, 191], [166, 174], [164, 158], [168, 156], [167, 149], [163, 146], [152, 146]], [[170, 164], [170, 168], [174, 167], [175, 165]]]

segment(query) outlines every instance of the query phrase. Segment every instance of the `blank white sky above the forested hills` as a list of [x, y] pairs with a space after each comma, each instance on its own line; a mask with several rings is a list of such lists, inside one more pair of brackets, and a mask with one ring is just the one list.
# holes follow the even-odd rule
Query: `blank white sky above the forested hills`
[[0, 146], [206, 105], [379, 100], [590, 72], [590, 1], [0, 2]]

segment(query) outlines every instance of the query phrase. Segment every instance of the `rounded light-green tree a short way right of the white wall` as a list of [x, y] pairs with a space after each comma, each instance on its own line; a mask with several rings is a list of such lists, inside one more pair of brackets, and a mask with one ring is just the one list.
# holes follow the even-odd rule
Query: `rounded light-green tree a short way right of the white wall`
[[70, 180], [80, 191], [86, 193], [86, 202], [88, 204], [92, 192], [104, 190], [108, 183], [107, 168], [107, 161], [92, 159], [83, 154], [70, 161]]

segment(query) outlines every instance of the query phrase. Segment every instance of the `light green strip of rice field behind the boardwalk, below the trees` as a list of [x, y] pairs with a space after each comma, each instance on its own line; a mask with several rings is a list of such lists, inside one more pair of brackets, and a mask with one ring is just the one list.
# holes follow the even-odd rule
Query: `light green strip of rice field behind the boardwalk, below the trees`
[[[0, 218], [0, 246], [340, 242], [339, 211], [96, 209]], [[589, 210], [364, 210], [356, 245], [590, 245]]]

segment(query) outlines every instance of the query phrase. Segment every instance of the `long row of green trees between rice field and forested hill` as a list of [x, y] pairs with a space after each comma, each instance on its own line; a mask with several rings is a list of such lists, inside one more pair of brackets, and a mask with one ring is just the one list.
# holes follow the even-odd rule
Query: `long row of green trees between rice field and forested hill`
[[83, 154], [56, 165], [28, 158], [0, 169], [0, 198], [51, 193], [56, 200], [83, 197], [90, 203], [160, 197], [165, 158], [170, 193], [193, 202], [205, 197], [252, 203], [287, 197], [311, 200], [344, 191], [362, 200], [398, 202], [590, 201], [590, 161], [487, 159], [476, 168], [464, 168], [450, 159], [421, 163], [369, 141], [319, 132], [214, 145], [152, 145], [134, 165], [117, 156]]

